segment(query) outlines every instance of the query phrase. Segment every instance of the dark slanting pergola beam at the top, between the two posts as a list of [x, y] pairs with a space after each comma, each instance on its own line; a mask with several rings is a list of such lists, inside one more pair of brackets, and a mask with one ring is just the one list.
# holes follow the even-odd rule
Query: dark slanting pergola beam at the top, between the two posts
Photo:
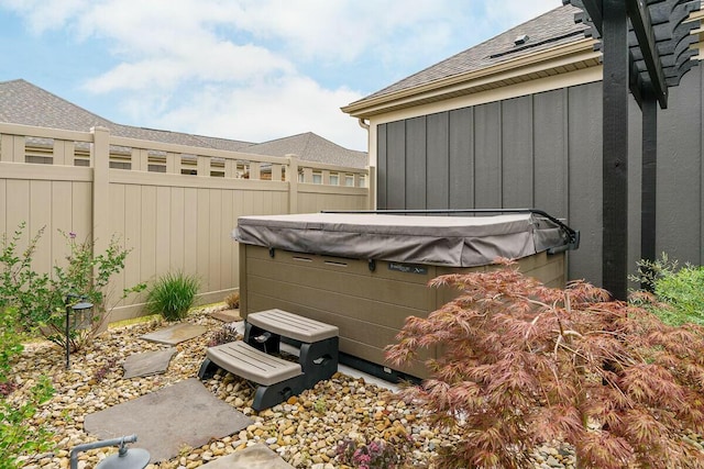
[[638, 38], [638, 46], [642, 53], [642, 59], [648, 69], [652, 92], [656, 94], [660, 108], [667, 109], [668, 85], [666, 83], [664, 71], [662, 71], [662, 65], [660, 64], [660, 56], [658, 54], [658, 47], [656, 46], [656, 35], [648, 5], [645, 4], [645, 0], [626, 0], [626, 10], [628, 11], [628, 18], [630, 18], [634, 33], [636, 33], [636, 37]]

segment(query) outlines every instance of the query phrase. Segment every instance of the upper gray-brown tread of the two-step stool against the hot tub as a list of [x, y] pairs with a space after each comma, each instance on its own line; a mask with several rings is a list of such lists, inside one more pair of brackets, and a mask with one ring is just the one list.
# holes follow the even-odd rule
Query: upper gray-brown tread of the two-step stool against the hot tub
[[308, 344], [337, 337], [340, 334], [338, 326], [277, 309], [250, 313], [246, 321], [274, 334]]

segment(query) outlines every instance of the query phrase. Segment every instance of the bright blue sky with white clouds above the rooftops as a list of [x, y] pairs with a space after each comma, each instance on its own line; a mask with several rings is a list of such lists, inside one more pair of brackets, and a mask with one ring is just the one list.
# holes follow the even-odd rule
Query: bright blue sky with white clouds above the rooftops
[[340, 108], [561, 0], [0, 0], [0, 81], [119, 124], [245, 142], [314, 132], [366, 150]]

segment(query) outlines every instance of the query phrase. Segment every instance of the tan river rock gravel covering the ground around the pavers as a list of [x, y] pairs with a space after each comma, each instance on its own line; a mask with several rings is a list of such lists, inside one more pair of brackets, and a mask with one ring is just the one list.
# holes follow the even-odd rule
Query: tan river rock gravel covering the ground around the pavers
[[[57, 346], [44, 342], [29, 344], [13, 367], [18, 390], [9, 399], [23, 400], [42, 375], [52, 380], [56, 392], [40, 407], [31, 424], [42, 425], [54, 435], [54, 449], [42, 455], [22, 456], [21, 467], [68, 468], [72, 448], [96, 440], [84, 432], [87, 414], [197, 377], [208, 343], [222, 333], [223, 323], [209, 315], [220, 308], [200, 309], [185, 320], [205, 325], [208, 332], [178, 344], [178, 353], [163, 375], [122, 378], [122, 364], [127, 357], [166, 347], [139, 338], [168, 325], [158, 320], [108, 330], [92, 344], [72, 355], [69, 370], [66, 370], [65, 355]], [[336, 448], [345, 438], [385, 439], [391, 444], [407, 442], [403, 447], [407, 450], [408, 467], [430, 468], [440, 448], [458, 442], [454, 435], [430, 428], [421, 407], [394, 399], [392, 391], [365, 382], [363, 378], [337, 373], [314, 389], [262, 412], [250, 406], [253, 389], [231, 373], [220, 371], [204, 384], [216, 397], [252, 417], [254, 423], [238, 434], [211, 440], [202, 447], [184, 447], [174, 458], [147, 468], [195, 468], [257, 443], [267, 445], [295, 468], [338, 468], [344, 466], [336, 460]], [[117, 448], [100, 448], [81, 453], [78, 467], [94, 468], [116, 451]], [[531, 456], [527, 464], [530, 468], [574, 467], [574, 453], [566, 445], [546, 445], [536, 448]]]

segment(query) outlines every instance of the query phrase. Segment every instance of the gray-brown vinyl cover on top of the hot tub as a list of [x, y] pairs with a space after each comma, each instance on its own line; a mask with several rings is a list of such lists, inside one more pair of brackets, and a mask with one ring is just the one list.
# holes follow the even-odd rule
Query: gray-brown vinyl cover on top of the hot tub
[[568, 243], [558, 224], [532, 213], [241, 216], [232, 237], [244, 244], [295, 253], [450, 267], [488, 265], [497, 257], [517, 259]]

